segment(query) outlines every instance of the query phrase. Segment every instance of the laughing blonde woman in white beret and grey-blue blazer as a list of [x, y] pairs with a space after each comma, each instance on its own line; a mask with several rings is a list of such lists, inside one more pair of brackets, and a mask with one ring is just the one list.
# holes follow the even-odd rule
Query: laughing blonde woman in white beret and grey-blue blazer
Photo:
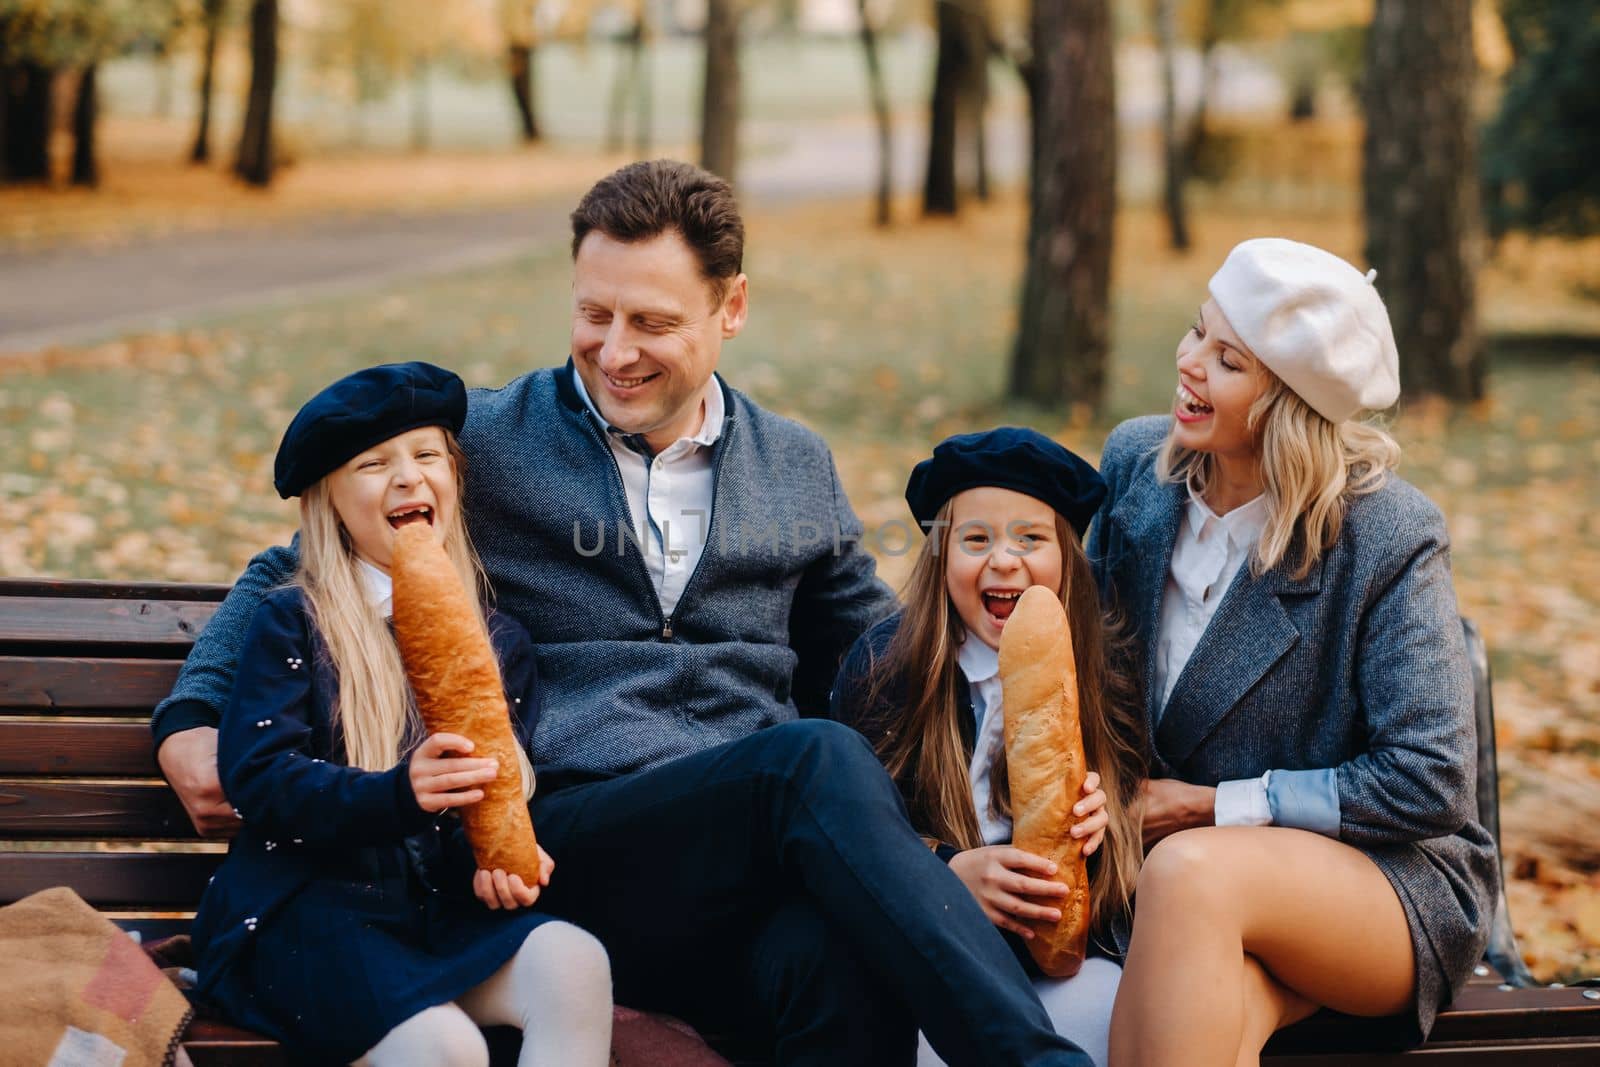
[[1146, 649], [1122, 1065], [1253, 1064], [1318, 1008], [1426, 1037], [1483, 952], [1470, 672], [1445, 523], [1365, 413], [1389, 317], [1342, 259], [1237, 246], [1171, 416], [1106, 445], [1091, 555]]

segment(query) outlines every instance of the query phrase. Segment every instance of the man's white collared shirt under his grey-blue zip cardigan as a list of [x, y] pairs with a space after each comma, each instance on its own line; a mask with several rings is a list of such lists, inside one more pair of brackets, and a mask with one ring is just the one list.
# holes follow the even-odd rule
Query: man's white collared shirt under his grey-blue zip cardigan
[[[611, 445], [627, 493], [634, 536], [643, 549], [645, 568], [661, 600], [661, 611], [670, 616], [710, 536], [710, 506], [717, 488], [710, 453], [722, 438], [722, 422], [726, 414], [722, 386], [715, 374], [706, 382], [702, 394], [706, 418], [699, 432], [680, 437], [653, 458], [646, 458], [629, 446], [627, 438], [634, 437], [637, 442], [635, 435], [611, 429], [589, 398], [584, 379], [576, 371], [573, 384], [606, 427], [606, 443]], [[640, 517], [645, 517], [645, 522], [640, 522]]]

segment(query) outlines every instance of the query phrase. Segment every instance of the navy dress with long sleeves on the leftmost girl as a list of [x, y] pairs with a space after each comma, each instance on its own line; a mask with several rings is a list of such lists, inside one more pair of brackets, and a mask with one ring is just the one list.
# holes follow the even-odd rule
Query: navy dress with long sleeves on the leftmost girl
[[[526, 744], [538, 718], [531, 643], [498, 614], [490, 637]], [[195, 915], [195, 998], [277, 1038], [293, 1062], [357, 1059], [483, 982], [552, 920], [490, 910], [472, 894], [461, 821], [418, 806], [406, 761], [344, 766], [336, 696], [301, 590], [270, 593], [222, 715], [218, 766], [243, 827]]]

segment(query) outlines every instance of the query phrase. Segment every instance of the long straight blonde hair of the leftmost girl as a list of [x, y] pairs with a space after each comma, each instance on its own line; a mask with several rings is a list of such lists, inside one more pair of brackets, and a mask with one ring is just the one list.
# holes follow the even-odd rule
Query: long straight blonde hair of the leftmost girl
[[[456, 499], [466, 482], [466, 456], [450, 430], [443, 430], [450, 453]], [[445, 553], [462, 587], [472, 597], [478, 625], [488, 625], [483, 603], [488, 581], [478, 563], [461, 507], [454, 507], [445, 528]], [[306, 608], [322, 635], [328, 659], [339, 675], [339, 696], [333, 705], [334, 736], [344, 745], [350, 766], [387, 771], [422, 742], [422, 720], [411, 699], [411, 686], [400, 662], [389, 624], [366, 598], [360, 560], [350, 534], [333, 507], [328, 478], [301, 494], [299, 569], [294, 584], [306, 593]], [[523, 795], [533, 795], [533, 765], [523, 745], [517, 747]]]

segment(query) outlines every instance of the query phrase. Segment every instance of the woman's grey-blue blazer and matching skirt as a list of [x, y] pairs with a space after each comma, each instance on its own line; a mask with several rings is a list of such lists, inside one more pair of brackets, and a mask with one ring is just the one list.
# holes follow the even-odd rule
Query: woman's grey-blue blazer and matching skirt
[[[1155, 477], [1170, 418], [1118, 426], [1090, 555], [1154, 648], [1182, 485]], [[1334, 768], [1339, 840], [1400, 896], [1416, 953], [1416, 1032], [1482, 958], [1494, 909], [1494, 843], [1478, 824], [1472, 672], [1438, 509], [1389, 477], [1355, 498], [1333, 549], [1302, 579], [1240, 568], [1155, 725], [1154, 777], [1202, 785], [1267, 769]]]

